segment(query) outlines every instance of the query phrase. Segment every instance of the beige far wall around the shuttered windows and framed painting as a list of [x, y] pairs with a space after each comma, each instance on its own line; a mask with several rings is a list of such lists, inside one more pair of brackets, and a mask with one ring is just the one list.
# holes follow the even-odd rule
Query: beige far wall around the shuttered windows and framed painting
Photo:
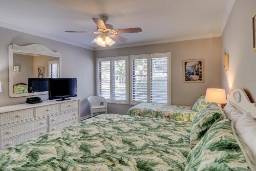
[[[221, 87], [222, 62], [221, 37], [169, 42], [166, 44], [138, 46], [96, 51], [96, 58], [172, 52], [172, 104], [193, 105], [206, 88]], [[182, 60], [205, 59], [205, 82], [183, 83]], [[108, 113], [126, 114], [131, 105], [109, 104]]]

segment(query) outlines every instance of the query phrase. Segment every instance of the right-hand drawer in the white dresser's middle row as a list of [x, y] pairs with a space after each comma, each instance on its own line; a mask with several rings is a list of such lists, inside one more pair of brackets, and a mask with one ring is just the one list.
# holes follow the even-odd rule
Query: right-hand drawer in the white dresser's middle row
[[49, 117], [49, 125], [53, 125], [53, 124], [63, 122], [69, 119], [77, 118], [77, 117], [78, 117], [78, 110], [59, 114], [59, 115], [53, 115]]

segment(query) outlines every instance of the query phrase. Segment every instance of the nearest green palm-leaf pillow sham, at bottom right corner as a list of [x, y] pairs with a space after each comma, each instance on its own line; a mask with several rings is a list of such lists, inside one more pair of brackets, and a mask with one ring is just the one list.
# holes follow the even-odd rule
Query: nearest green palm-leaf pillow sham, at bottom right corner
[[185, 171], [255, 171], [253, 160], [248, 147], [236, 136], [231, 121], [225, 119], [212, 125], [201, 141], [191, 149]]

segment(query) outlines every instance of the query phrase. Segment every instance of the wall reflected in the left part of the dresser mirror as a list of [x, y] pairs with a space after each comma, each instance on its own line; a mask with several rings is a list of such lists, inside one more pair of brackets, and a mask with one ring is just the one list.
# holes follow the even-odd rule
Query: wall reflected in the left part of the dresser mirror
[[28, 78], [33, 77], [33, 56], [14, 53], [13, 65], [19, 66], [19, 72], [13, 72], [13, 86], [17, 83], [28, 85]]

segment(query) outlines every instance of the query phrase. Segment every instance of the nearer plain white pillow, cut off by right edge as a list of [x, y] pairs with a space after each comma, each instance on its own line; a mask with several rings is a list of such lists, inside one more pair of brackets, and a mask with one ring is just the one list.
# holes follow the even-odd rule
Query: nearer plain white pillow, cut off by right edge
[[256, 158], [256, 122], [252, 119], [251, 115], [248, 113], [238, 117], [234, 128], [237, 131], [238, 137], [246, 143]]

